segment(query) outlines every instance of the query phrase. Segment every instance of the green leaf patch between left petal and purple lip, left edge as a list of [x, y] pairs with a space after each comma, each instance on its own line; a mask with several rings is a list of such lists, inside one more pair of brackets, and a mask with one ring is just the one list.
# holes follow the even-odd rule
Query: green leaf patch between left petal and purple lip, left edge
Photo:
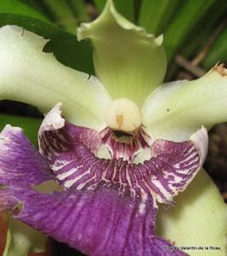
[[26, 137], [28, 137], [33, 144], [37, 145], [37, 132], [41, 122], [41, 119], [0, 114], [0, 131], [8, 124], [21, 127], [24, 129]]

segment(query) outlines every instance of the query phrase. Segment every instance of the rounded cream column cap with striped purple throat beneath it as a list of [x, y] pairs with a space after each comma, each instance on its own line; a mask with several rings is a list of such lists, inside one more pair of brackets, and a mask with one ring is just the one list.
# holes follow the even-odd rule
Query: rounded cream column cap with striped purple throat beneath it
[[137, 104], [128, 98], [111, 102], [105, 113], [107, 127], [101, 131], [102, 143], [109, 149], [112, 159], [132, 162], [148, 146], [141, 128], [142, 117]]

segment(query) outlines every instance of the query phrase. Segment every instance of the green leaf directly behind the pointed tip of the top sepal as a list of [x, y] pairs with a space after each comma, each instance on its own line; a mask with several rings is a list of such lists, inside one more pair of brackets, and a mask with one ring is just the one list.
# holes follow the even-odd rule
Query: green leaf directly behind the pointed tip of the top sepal
[[[115, 7], [117, 11], [123, 15], [125, 18], [131, 21], [134, 20], [134, 3], [133, 0], [114, 0]], [[94, 0], [94, 3], [99, 11], [101, 13], [105, 7], [106, 0]]]

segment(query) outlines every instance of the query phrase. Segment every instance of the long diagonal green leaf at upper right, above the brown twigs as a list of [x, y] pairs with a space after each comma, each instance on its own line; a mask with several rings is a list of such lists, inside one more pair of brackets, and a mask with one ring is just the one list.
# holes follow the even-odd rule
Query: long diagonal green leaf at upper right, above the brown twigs
[[[169, 60], [213, 3], [214, 0], [184, 1], [184, 5], [177, 11], [175, 18], [164, 32], [164, 46]], [[192, 39], [190, 38], [190, 40]]]

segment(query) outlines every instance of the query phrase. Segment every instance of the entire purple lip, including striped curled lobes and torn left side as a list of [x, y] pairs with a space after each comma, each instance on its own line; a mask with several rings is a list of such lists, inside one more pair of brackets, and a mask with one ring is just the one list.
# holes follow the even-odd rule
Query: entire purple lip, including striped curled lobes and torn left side
[[[101, 133], [65, 123], [60, 104], [39, 131], [43, 157], [18, 128], [7, 126], [1, 137], [0, 201], [15, 218], [88, 255], [184, 255], [165, 250], [171, 244], [155, 236], [156, 201], [173, 202], [195, 177], [207, 154], [205, 128], [183, 143], [156, 140], [150, 160], [138, 165], [97, 158]], [[34, 163], [37, 182], [29, 172]], [[44, 194], [31, 186], [48, 179], [64, 189]]]

